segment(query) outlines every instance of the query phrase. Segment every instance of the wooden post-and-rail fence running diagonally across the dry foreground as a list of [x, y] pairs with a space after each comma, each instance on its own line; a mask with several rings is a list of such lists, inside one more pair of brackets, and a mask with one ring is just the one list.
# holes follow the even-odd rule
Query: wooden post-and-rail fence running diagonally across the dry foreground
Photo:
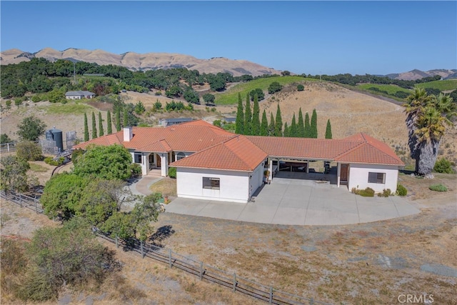
[[[1, 198], [19, 204], [21, 207], [36, 211], [37, 214], [42, 214], [44, 212], [44, 209], [37, 198], [25, 196], [24, 194], [5, 194], [4, 191], [0, 192], [0, 196]], [[135, 251], [143, 258], [147, 257], [149, 259], [161, 261], [164, 264], [168, 264], [170, 268], [174, 267], [186, 271], [189, 274], [194, 274], [199, 277], [201, 281], [206, 280], [211, 283], [225, 286], [232, 289], [233, 292], [246, 294], [255, 299], [266, 301], [269, 304], [328, 304], [321, 301], [315, 301], [313, 298], [308, 299], [296, 294], [288, 294], [285, 291], [274, 289], [271, 286], [258, 284], [256, 281], [251, 281], [234, 273], [230, 274], [227, 271], [204, 264], [203, 261], [196, 261], [188, 256], [176, 253], [171, 249], [163, 249], [158, 246], [154, 246], [153, 244], [143, 243], [142, 241], [136, 239], [132, 241], [124, 241], [123, 239], [119, 239], [117, 237], [113, 239], [111, 236], [104, 234], [104, 232], [101, 232], [96, 228], [93, 229], [93, 232], [102, 239], [116, 244], [116, 247], [118, 248], [121, 246], [124, 249]]]

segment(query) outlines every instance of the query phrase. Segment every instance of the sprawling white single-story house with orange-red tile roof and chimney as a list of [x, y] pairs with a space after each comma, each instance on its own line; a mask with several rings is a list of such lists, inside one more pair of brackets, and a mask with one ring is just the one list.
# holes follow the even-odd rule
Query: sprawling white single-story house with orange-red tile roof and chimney
[[179, 197], [246, 203], [279, 164], [325, 161], [337, 164], [337, 185], [396, 191], [401, 159], [386, 144], [359, 133], [345, 139], [303, 139], [233, 134], [206, 121], [158, 127], [126, 127], [116, 134], [74, 146], [121, 144], [142, 173], [176, 168]]

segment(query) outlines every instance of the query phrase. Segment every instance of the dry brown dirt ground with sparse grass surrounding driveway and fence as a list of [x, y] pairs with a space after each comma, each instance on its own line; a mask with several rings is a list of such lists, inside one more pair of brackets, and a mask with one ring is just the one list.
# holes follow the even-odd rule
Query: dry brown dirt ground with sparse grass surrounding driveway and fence
[[[156, 244], [332, 304], [399, 304], [399, 294], [424, 293], [433, 294], [436, 304], [457, 304], [457, 176], [438, 174], [432, 181], [401, 174], [401, 182], [421, 214], [348, 226], [280, 226], [164, 213], [155, 227], [169, 233]], [[436, 183], [448, 192], [428, 191], [426, 186]], [[2, 238], [30, 238], [40, 226], [58, 225], [4, 201], [1, 214]], [[65, 291], [59, 304], [112, 304], [129, 289], [138, 292], [134, 304], [258, 303], [138, 254], [116, 253], [124, 264], [119, 289], [106, 284], [91, 294]]]

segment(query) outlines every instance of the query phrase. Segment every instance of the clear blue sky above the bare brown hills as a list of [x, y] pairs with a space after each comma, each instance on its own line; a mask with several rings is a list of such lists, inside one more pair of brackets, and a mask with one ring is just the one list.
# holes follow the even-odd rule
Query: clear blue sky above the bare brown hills
[[457, 69], [457, 1], [1, 1], [1, 51], [246, 59], [297, 74]]

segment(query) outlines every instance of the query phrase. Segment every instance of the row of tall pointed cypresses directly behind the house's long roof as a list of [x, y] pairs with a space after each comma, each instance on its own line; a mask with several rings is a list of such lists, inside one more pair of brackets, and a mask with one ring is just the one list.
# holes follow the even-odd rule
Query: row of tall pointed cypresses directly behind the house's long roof
[[[266, 111], [263, 109], [262, 118], [260, 119], [260, 109], [258, 106], [257, 95], [253, 96], [253, 108], [251, 109], [250, 94], [246, 94], [246, 104], [243, 106], [241, 93], [238, 93], [238, 109], [236, 112], [235, 133], [245, 134], [248, 136], [285, 136], [295, 138], [317, 138], [317, 112], [313, 109], [311, 120], [308, 112], [306, 112], [303, 119], [301, 108], [298, 111], [298, 119], [296, 119], [295, 112], [292, 116], [291, 124], [283, 124], [281, 116], [281, 108], [276, 110], [276, 119], [273, 113], [270, 114], [270, 121], [268, 122]], [[326, 139], [331, 139], [331, 123], [330, 119], [326, 125]]]

